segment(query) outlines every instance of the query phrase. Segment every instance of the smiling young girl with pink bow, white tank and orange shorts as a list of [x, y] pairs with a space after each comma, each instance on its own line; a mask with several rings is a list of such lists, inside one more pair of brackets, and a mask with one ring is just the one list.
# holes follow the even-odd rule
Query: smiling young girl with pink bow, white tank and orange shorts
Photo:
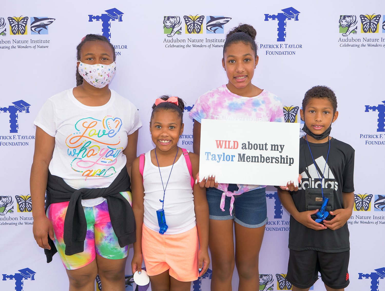
[[183, 110], [183, 100], [175, 96], [155, 101], [150, 121], [155, 148], [132, 163], [136, 243], [131, 266], [139, 273], [144, 259], [153, 291], [189, 291], [210, 263], [206, 189], [193, 178], [199, 156], [177, 146]]

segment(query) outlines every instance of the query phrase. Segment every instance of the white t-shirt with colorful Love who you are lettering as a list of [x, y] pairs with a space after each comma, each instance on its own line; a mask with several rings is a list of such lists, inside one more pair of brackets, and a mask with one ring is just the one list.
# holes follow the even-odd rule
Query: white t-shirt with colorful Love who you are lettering
[[[49, 98], [33, 122], [55, 137], [49, 170], [74, 189], [108, 187], [126, 165], [122, 151], [127, 135], [142, 126], [139, 113], [114, 90], [102, 106], [80, 103], [72, 90]], [[83, 200], [82, 205], [95, 206], [104, 200]]]

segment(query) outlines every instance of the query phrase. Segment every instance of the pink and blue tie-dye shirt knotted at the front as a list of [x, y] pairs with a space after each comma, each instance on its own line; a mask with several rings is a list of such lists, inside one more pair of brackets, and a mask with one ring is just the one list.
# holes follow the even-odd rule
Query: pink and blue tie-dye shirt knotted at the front
[[[226, 85], [204, 93], [195, 102], [189, 115], [199, 123], [202, 119], [215, 120], [245, 120], [245, 121], [275, 121], [284, 122], [283, 105], [281, 99], [273, 93], [263, 90], [255, 97], [243, 97], [231, 93]], [[224, 206], [224, 197], [241, 195], [244, 192], [264, 188], [265, 185], [243, 185], [238, 184], [239, 190], [228, 191], [228, 184], [220, 183], [219, 190], [223, 191], [221, 209]], [[230, 213], [233, 203], [230, 206]], [[223, 210], [224, 211], [224, 210]]]

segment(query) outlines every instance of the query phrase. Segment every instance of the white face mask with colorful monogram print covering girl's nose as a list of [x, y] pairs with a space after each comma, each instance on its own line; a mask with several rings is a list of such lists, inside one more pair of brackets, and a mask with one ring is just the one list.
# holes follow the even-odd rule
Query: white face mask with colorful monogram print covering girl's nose
[[77, 68], [80, 76], [83, 77], [90, 85], [96, 88], [103, 88], [107, 85], [115, 74], [116, 63], [113, 62], [110, 65], [95, 64], [89, 65], [79, 62]]

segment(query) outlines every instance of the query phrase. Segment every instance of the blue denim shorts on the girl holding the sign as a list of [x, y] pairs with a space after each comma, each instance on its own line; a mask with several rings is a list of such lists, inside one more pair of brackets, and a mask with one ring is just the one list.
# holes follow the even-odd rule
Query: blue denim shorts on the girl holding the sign
[[234, 208], [230, 215], [230, 197], [225, 198], [224, 211], [221, 210], [223, 191], [207, 188], [206, 197], [209, 204], [210, 219], [234, 221], [247, 228], [258, 228], [267, 222], [266, 188], [251, 190], [234, 196]]

